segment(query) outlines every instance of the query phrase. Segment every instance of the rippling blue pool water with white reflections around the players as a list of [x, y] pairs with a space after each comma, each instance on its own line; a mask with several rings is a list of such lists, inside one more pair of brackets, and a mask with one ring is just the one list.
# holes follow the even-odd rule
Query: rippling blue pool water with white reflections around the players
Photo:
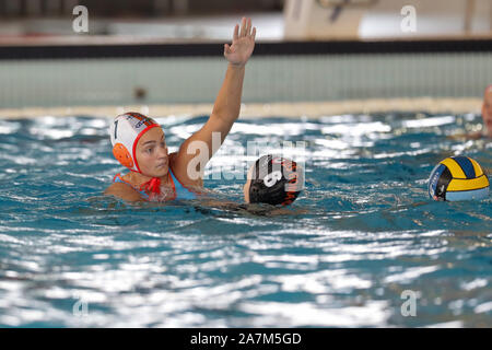
[[[173, 151], [207, 117], [156, 119]], [[492, 326], [491, 199], [426, 190], [447, 156], [492, 167], [490, 139], [446, 138], [480, 116], [241, 119], [206, 186], [241, 202], [247, 141], [305, 141], [281, 215], [102, 196], [124, 172], [109, 120], [0, 120], [0, 326]]]

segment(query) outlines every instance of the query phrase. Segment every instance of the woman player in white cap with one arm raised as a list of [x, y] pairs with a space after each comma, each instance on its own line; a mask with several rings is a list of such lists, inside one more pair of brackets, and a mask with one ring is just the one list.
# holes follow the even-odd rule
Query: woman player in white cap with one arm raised
[[222, 144], [239, 116], [245, 66], [255, 48], [255, 36], [251, 20], [243, 18], [241, 30], [237, 24], [234, 27], [232, 45], [224, 45], [229, 67], [212, 114], [177, 152], [167, 153], [164, 130], [152, 118], [126, 113], [113, 120], [113, 153], [130, 172], [117, 174], [105, 194], [130, 201], [196, 197], [203, 186], [204, 164], [216, 151], [212, 150], [212, 133], [219, 132]]

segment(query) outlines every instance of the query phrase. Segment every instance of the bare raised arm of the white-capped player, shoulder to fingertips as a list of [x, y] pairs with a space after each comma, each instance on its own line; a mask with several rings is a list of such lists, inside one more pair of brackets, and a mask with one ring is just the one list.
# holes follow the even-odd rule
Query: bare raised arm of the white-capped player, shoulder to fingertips
[[[201, 182], [204, 165], [224, 141], [239, 116], [245, 66], [255, 48], [256, 28], [251, 20], [243, 18], [234, 27], [233, 42], [224, 44], [224, 57], [229, 61], [225, 79], [204, 126], [189, 137], [173, 156], [173, 171], [185, 184]], [[215, 138], [215, 140], [213, 140]]]

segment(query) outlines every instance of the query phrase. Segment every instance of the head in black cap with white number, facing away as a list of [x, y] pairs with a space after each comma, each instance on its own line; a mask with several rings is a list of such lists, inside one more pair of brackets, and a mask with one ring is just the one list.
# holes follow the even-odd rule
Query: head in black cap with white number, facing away
[[303, 170], [294, 161], [263, 155], [249, 168], [244, 199], [248, 203], [288, 206], [297, 198], [303, 186]]

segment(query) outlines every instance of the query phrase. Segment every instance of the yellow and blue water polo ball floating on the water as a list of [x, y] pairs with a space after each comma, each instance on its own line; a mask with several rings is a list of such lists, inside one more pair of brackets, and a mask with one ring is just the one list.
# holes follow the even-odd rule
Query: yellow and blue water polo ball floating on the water
[[471, 200], [489, 197], [489, 178], [479, 163], [468, 156], [450, 156], [440, 162], [429, 178], [434, 200]]

